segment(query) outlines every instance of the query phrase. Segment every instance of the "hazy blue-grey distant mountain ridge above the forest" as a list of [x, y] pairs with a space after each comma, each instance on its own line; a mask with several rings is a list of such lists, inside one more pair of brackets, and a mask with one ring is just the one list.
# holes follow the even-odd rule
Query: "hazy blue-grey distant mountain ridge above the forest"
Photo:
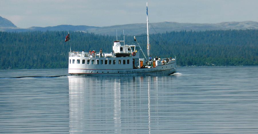
[[[2, 18], [2, 17], [1, 17]], [[143, 34], [146, 29], [145, 23], [135, 23], [135, 24], [125, 24], [125, 25], [113, 25], [106, 27], [95, 27], [87, 25], [57, 25], [49, 27], [29, 27], [22, 29], [16, 27], [11, 21], [0, 18], [0, 31], [15, 31], [15, 32], [24, 32], [24, 31], [82, 31], [95, 34], [107, 34], [115, 35], [116, 29], [118, 34], [122, 34], [123, 30], [127, 35], [138, 35]], [[1, 21], [4, 20], [4, 21]], [[2, 22], [2, 23], [1, 23]], [[255, 21], [243, 21], [243, 22], [221, 22], [221, 23], [178, 23], [178, 22], [158, 22], [151, 23], [152, 27], [155, 28], [157, 33], [163, 33], [166, 31], [205, 31], [205, 30], [228, 30], [228, 29], [258, 29], [258, 22]], [[154, 30], [150, 30], [150, 33], [155, 33]], [[145, 31], [146, 33], [146, 31]]]

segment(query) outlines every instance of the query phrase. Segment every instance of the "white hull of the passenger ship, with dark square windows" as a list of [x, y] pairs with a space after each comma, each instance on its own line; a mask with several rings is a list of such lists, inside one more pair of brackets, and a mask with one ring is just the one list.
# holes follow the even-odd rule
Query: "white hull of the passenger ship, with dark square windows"
[[[121, 59], [122, 63], [119, 64], [119, 59]], [[87, 75], [87, 76], [165, 76], [170, 75], [176, 72], [176, 59], [171, 59], [166, 64], [157, 65], [151, 68], [133, 68], [133, 58], [132, 57], [122, 57], [122, 58], [92, 58], [92, 57], [69, 57], [71, 61], [68, 68], [68, 73], [71, 75]], [[72, 62], [74, 60], [74, 63]], [[77, 60], [80, 62], [78, 63]], [[82, 60], [85, 60], [84, 64], [82, 64]], [[90, 60], [88, 64], [87, 61]], [[94, 64], [92, 64], [92, 60]], [[98, 64], [96, 61], [98, 60]], [[102, 62], [101, 64], [101, 60]], [[109, 62], [111, 60], [111, 64], [107, 62], [105, 64], [105, 60]], [[113, 61], [115, 60], [115, 64]], [[123, 60], [129, 61], [123, 64]], [[162, 61], [160, 61], [162, 62]]]

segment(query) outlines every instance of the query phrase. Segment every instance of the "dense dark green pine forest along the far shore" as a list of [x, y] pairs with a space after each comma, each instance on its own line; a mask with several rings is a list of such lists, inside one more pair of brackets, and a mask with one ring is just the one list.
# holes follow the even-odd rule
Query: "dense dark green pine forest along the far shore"
[[[125, 32], [126, 33], [126, 32]], [[0, 32], [0, 69], [68, 68], [68, 31]], [[137, 37], [143, 52], [146, 37]], [[70, 32], [74, 51], [112, 52], [115, 36]], [[119, 36], [123, 40], [123, 36]], [[126, 44], [136, 44], [125, 36]], [[258, 30], [173, 31], [151, 34], [151, 55], [176, 56], [178, 66], [257, 66]]]

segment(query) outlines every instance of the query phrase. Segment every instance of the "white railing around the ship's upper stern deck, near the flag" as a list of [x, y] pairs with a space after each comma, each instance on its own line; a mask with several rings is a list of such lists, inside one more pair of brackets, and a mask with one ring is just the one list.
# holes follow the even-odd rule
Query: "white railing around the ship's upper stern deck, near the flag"
[[69, 52], [69, 57], [114, 57], [114, 54], [109, 53], [93, 53], [93, 52]]

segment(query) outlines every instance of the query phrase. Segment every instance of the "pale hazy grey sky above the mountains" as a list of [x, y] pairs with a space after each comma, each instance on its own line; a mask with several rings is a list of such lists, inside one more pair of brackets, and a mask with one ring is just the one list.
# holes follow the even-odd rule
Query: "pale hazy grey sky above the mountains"
[[258, 21], [258, 0], [0, 0], [0, 16], [17, 27], [110, 26], [149, 21]]

